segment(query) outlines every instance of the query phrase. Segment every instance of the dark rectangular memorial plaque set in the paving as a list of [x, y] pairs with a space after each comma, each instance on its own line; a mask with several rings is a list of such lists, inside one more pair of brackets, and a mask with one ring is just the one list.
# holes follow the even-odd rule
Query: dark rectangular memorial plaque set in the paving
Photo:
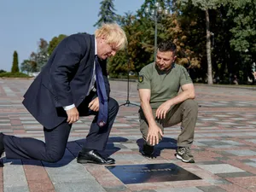
[[201, 179], [201, 177], [172, 163], [106, 167], [115, 177], [118, 177], [125, 184]]

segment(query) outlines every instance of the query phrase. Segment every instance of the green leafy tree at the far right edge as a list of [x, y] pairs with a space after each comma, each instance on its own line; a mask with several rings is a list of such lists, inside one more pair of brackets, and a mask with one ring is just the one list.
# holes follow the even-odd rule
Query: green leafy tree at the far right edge
[[238, 59], [236, 75], [245, 83], [252, 73], [253, 61], [256, 60], [256, 1], [236, 0], [227, 3], [227, 6], [227, 16], [233, 20], [230, 46]]

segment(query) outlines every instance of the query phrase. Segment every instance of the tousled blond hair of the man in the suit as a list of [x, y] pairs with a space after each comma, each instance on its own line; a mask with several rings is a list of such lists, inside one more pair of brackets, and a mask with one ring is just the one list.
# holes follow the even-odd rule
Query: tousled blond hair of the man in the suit
[[106, 38], [108, 44], [114, 44], [116, 49], [125, 49], [127, 38], [124, 30], [116, 23], [104, 23], [96, 29], [96, 38]]

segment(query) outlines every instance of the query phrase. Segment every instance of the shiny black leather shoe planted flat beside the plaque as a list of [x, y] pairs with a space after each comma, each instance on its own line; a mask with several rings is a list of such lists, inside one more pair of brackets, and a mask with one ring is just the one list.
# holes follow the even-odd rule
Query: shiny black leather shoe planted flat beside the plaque
[[95, 163], [95, 164], [106, 164], [111, 165], [114, 164], [112, 158], [104, 158], [101, 154], [99, 154], [96, 150], [91, 150], [89, 152], [81, 153], [79, 152], [78, 163]]

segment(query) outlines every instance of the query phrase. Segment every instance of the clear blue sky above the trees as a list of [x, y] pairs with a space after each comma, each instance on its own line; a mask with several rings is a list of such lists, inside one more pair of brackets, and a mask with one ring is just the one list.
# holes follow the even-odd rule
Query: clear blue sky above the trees
[[[94, 33], [102, 0], [0, 0], [0, 69], [10, 71], [16, 50], [19, 65], [60, 34]], [[144, 0], [113, 0], [116, 13], [136, 13]]]

